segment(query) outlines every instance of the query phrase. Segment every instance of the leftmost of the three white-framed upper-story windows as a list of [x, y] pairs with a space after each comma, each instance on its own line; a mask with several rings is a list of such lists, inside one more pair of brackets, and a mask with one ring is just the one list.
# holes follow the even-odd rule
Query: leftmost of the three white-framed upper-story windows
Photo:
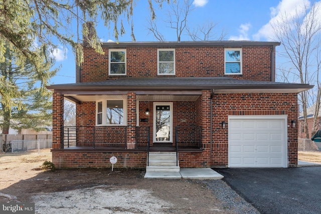
[[126, 75], [126, 50], [109, 50], [109, 75]]

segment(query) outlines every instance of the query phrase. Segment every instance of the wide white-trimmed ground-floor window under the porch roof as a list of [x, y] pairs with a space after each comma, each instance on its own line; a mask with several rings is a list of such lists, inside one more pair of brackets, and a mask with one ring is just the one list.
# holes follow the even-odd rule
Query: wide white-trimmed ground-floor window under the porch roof
[[125, 100], [96, 102], [96, 125], [126, 125]]

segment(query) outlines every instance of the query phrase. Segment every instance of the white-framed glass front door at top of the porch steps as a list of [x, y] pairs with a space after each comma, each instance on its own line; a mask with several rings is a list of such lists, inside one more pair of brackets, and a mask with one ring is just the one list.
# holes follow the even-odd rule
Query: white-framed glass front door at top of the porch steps
[[154, 142], [172, 142], [173, 139], [173, 104], [154, 103]]

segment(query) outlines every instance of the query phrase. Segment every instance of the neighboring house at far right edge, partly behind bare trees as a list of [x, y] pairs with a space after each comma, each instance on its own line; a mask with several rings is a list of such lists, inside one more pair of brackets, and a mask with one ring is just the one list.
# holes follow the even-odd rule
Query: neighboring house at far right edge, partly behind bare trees
[[[311, 105], [308, 109], [306, 109], [306, 114], [307, 114], [307, 118], [306, 118], [306, 123], [307, 123], [307, 128], [309, 131], [309, 138], [312, 137], [312, 129], [313, 129], [313, 119], [314, 119], [314, 113], [315, 113], [315, 103], [313, 105]], [[315, 131], [321, 129], [321, 109], [318, 112], [318, 117], [316, 120], [316, 127], [315, 127]], [[298, 130], [298, 138], [306, 138], [306, 134], [305, 134], [305, 130], [304, 130], [304, 125], [305, 125], [305, 120], [303, 117], [303, 112], [300, 113], [299, 118], [298, 118], [298, 125], [299, 125], [299, 130]]]

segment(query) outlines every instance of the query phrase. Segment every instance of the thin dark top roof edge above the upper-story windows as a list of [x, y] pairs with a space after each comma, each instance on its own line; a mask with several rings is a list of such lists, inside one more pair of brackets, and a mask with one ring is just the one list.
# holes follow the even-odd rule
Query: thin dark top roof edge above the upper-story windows
[[129, 46], [279, 46], [280, 42], [260, 41], [184, 41], [184, 42], [105, 42], [102, 47], [129, 47]]

